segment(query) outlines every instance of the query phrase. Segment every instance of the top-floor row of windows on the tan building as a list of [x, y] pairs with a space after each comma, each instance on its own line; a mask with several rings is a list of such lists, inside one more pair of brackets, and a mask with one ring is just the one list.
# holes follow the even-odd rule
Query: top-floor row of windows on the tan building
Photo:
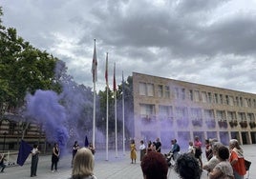
[[[173, 92], [172, 92], [173, 91]], [[155, 97], [155, 85], [152, 83], [139, 83], [139, 95]], [[245, 108], [256, 108], [256, 99], [244, 98], [242, 96], [232, 96], [216, 92], [206, 92], [200, 90], [175, 87], [173, 90], [169, 86], [158, 85], [157, 97], [167, 98], [173, 95], [175, 99], [189, 99], [194, 102], [209, 104], [229, 105]]]

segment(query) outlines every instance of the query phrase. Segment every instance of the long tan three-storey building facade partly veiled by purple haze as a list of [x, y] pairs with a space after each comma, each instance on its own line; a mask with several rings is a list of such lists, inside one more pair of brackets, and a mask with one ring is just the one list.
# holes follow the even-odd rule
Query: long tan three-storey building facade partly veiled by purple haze
[[133, 73], [135, 139], [256, 144], [256, 94]]

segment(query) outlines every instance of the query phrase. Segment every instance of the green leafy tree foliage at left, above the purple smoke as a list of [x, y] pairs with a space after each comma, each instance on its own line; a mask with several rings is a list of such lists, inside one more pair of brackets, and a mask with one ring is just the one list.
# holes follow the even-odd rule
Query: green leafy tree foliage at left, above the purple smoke
[[[0, 17], [2, 15], [0, 7]], [[6, 110], [23, 106], [28, 92], [60, 90], [54, 83], [56, 61], [53, 55], [24, 41], [15, 29], [5, 28], [0, 18], [0, 116]]]

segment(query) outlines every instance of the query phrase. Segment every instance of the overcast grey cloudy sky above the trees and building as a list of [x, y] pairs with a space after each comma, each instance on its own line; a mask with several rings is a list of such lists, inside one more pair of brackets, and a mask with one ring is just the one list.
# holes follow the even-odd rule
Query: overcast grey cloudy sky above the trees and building
[[[0, 0], [3, 24], [66, 62], [78, 84], [97, 89], [116, 63], [146, 73], [256, 93], [255, 0]], [[111, 83], [112, 84], [112, 83]]]

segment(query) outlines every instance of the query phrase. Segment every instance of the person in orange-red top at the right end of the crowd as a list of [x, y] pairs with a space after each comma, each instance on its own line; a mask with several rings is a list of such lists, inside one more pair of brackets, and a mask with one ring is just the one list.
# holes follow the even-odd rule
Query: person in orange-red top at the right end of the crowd
[[236, 139], [231, 139], [229, 141], [229, 150], [229, 162], [233, 168], [235, 179], [244, 179], [246, 174], [245, 158], [243, 149], [239, 146]]

